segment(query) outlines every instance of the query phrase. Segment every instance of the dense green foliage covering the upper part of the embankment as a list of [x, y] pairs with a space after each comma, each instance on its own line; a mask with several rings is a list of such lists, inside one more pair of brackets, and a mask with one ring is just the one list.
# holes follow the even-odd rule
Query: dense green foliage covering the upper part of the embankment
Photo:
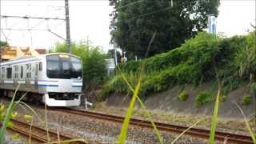
[[[214, 38], [213, 35], [202, 32], [177, 49], [140, 62], [130, 61], [121, 64], [120, 68], [128, 82], [136, 83], [134, 75], [138, 75], [142, 63], [145, 63], [140, 96], [146, 96], [175, 85], [197, 86], [202, 82], [216, 81], [214, 70], [216, 67], [222, 81], [223, 94], [226, 94], [245, 82], [255, 82], [255, 62], [252, 59], [256, 58], [256, 54], [251, 54], [249, 58], [247, 55], [242, 55], [247, 50], [256, 50], [253, 45], [255, 41], [254, 33], [232, 38]], [[130, 93], [130, 90], [121, 74], [117, 73], [114, 78], [106, 82], [104, 92], [105, 94]]]

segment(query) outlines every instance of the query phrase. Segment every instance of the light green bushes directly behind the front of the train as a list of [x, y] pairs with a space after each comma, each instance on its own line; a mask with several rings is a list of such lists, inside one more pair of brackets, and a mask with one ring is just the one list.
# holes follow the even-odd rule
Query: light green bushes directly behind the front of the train
[[[66, 48], [66, 43], [57, 43], [52, 52], [66, 52]], [[72, 43], [71, 50], [72, 54], [82, 58], [83, 78], [87, 88], [102, 82], [106, 76], [106, 54], [98, 46], [87, 46], [85, 42]]]

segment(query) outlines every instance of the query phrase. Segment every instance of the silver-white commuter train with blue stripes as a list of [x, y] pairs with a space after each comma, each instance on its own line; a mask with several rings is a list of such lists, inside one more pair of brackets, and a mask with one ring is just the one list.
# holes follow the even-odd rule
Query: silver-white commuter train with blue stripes
[[[19, 87], [18, 87], [19, 85]], [[82, 95], [82, 62], [73, 54], [54, 53], [18, 58], [0, 64], [0, 96], [26, 94], [29, 102], [47, 106], [79, 106]]]

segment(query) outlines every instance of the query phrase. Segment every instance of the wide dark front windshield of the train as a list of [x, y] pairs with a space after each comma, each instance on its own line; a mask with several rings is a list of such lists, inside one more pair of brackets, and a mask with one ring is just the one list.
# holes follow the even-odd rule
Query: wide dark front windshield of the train
[[82, 63], [79, 58], [55, 54], [46, 57], [48, 78], [82, 78]]

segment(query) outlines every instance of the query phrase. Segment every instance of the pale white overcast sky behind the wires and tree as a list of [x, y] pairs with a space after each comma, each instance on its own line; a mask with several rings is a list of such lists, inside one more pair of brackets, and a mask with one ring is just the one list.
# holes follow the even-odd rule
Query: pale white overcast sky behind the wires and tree
[[[256, 0], [221, 0], [218, 7], [217, 32], [227, 37], [247, 34], [255, 24]], [[73, 42], [90, 40], [90, 44], [108, 50], [110, 46], [110, 16], [113, 8], [107, 0], [70, 0], [70, 35]], [[65, 18], [64, 0], [1, 0], [2, 15], [19, 15], [49, 18]], [[53, 47], [64, 42], [66, 25], [64, 21], [26, 20], [17, 18], [1, 19], [1, 27], [12, 29], [33, 28], [38, 31], [2, 30], [1, 39], [10, 46], [31, 46], [34, 48]], [[50, 29], [56, 35], [46, 31]], [[39, 31], [40, 30], [40, 31]]]

